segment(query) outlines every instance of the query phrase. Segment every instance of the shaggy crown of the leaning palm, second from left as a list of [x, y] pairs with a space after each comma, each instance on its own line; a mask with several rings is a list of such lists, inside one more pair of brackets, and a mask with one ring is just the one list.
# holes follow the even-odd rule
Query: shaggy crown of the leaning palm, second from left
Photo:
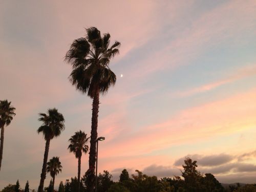
[[53, 139], [53, 137], [58, 137], [65, 129], [64, 117], [58, 112], [56, 108], [49, 109], [48, 115], [45, 113], [39, 113], [39, 121], [42, 121], [42, 125], [38, 128], [37, 133], [44, 135], [45, 139]]

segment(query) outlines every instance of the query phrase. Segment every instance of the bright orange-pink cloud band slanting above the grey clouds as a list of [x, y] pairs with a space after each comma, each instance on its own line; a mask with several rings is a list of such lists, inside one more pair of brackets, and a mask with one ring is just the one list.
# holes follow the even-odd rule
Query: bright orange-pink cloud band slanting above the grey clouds
[[[169, 120], [146, 126], [129, 137], [104, 145], [103, 157], [109, 154], [130, 156], [150, 153], [172, 145], [196, 143], [255, 126], [255, 90], [227, 99], [187, 109]], [[158, 139], [157, 139], [158, 138]], [[124, 150], [125, 149], [125, 150]], [[148, 160], [150, 161], [150, 160]]]

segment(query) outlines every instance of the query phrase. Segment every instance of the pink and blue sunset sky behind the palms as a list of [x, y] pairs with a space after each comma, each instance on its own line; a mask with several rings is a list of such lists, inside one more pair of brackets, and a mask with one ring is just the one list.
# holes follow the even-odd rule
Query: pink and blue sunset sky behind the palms
[[[254, 0], [10, 0], [0, 2], [0, 26], [0, 100], [16, 108], [5, 129], [0, 189], [17, 179], [37, 189], [45, 150], [38, 113], [54, 107], [66, 120], [50, 143], [48, 158], [63, 166], [55, 186], [77, 176], [68, 139], [78, 130], [90, 135], [92, 99], [72, 87], [63, 58], [92, 26], [121, 42], [110, 63], [116, 85], [100, 96], [98, 172], [109, 170], [114, 180], [123, 168], [180, 176], [190, 157], [222, 183], [255, 183]], [[88, 159], [82, 156], [81, 175]]]

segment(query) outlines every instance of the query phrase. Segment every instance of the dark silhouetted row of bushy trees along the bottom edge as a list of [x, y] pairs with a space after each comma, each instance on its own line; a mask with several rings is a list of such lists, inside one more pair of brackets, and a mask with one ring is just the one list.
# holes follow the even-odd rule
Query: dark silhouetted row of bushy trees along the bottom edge
[[[182, 166], [181, 177], [175, 176], [161, 179], [156, 176], [147, 176], [139, 170], [136, 170], [136, 174], [130, 176], [128, 171], [123, 169], [118, 182], [114, 182], [108, 170], [104, 170], [103, 174], [99, 174], [97, 178], [97, 192], [256, 192], [256, 184], [240, 186], [238, 183], [236, 186], [229, 185], [228, 188], [224, 188], [214, 175], [210, 173], [201, 174], [197, 170], [197, 161], [193, 161], [190, 158], [185, 158]], [[77, 192], [79, 188], [78, 179], [75, 177], [69, 181], [65, 184], [61, 181], [57, 191]], [[16, 185], [7, 186], [2, 192], [29, 191], [28, 182], [25, 190], [17, 190], [19, 188], [17, 185], [19, 186], [18, 181]], [[44, 191], [52, 190], [53, 182], [51, 180], [49, 186], [44, 188]], [[80, 191], [89, 191], [86, 175], [80, 181]]]

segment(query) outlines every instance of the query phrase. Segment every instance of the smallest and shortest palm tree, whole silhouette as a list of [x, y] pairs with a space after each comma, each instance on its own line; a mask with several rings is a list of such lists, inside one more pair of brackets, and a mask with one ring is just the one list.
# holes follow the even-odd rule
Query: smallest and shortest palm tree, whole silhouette
[[52, 177], [52, 192], [54, 191], [54, 182], [55, 176], [61, 172], [61, 162], [59, 161], [59, 157], [53, 157], [47, 162], [47, 173], [50, 173]]

